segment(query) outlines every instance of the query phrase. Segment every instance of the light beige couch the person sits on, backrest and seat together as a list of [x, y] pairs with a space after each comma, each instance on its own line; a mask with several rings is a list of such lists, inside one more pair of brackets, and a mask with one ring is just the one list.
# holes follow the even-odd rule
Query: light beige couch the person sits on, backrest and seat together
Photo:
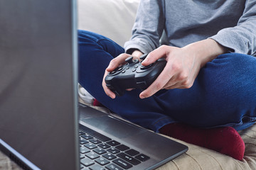
[[[78, 0], [78, 28], [100, 33], [123, 46], [131, 37], [138, 5], [139, 0]], [[81, 87], [79, 91], [80, 102], [90, 105], [93, 97], [88, 96]], [[96, 108], [110, 113], [106, 108]], [[159, 170], [256, 169], [256, 124], [239, 133], [245, 142], [245, 157], [242, 161], [170, 137], [187, 145], [188, 152], [159, 167]]]

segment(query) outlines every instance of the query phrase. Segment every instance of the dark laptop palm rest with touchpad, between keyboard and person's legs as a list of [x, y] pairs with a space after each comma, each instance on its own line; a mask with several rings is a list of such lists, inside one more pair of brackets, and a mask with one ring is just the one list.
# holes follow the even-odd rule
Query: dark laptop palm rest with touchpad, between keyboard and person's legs
[[[84, 109], [92, 111], [92, 108], [89, 107]], [[157, 135], [155, 132], [132, 125], [105, 113], [102, 114], [100, 111], [95, 110], [93, 112], [96, 114], [92, 118], [85, 118], [84, 113], [80, 113], [80, 124], [100, 132], [102, 135], [112, 138], [112, 140], [121, 141], [124, 145], [148, 154], [155, 160], [171, 160], [188, 150], [185, 145]]]

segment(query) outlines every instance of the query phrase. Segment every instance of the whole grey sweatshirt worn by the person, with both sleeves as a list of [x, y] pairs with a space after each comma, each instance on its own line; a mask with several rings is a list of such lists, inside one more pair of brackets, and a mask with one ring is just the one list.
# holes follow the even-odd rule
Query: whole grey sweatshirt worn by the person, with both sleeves
[[256, 55], [256, 0], [141, 0], [124, 48], [151, 52], [163, 31], [167, 45], [212, 38], [232, 52]]

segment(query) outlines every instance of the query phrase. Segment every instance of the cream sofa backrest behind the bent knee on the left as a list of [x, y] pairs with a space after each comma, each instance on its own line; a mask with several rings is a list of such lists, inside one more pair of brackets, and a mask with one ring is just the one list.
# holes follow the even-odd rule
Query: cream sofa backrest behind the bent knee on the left
[[139, 0], [78, 0], [78, 29], [100, 33], [123, 47], [138, 6]]

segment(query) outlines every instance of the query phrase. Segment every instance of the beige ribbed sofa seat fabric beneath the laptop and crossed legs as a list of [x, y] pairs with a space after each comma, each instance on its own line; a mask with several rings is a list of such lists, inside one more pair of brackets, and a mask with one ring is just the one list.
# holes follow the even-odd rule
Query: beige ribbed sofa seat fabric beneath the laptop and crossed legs
[[[82, 98], [79, 98], [80, 103], [87, 106], [92, 106], [85, 103]], [[92, 106], [97, 110], [108, 113], [112, 116], [117, 115], [111, 113], [107, 108]], [[173, 159], [172, 161], [160, 166], [157, 170], [255, 170], [256, 169], [256, 124], [246, 130], [241, 130], [239, 134], [245, 142], [245, 157], [242, 161], [228, 157], [225, 154], [220, 154], [210, 149], [191, 145], [181, 140], [176, 140], [168, 137], [171, 140], [176, 140], [188, 146], [188, 152], [181, 154], [181, 156]], [[18, 165], [0, 152], [0, 169], [6, 170], [19, 170]]]

